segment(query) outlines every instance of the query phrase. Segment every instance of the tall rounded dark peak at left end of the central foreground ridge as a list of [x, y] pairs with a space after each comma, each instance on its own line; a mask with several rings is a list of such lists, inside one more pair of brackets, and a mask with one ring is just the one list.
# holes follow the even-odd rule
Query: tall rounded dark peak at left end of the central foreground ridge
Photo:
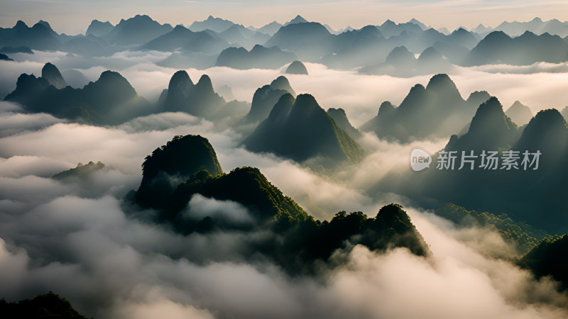
[[176, 136], [146, 157], [136, 201], [143, 206], [163, 207], [178, 184], [201, 170], [213, 176], [223, 172], [209, 141], [200, 135]]

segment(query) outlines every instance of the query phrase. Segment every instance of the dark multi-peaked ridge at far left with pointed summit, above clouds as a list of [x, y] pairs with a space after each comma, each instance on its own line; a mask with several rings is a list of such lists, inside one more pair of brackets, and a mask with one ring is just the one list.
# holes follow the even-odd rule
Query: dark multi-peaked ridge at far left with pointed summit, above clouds
[[21, 103], [28, 112], [96, 125], [119, 124], [153, 111], [151, 104], [117, 72], [105, 71], [82, 89], [65, 85], [57, 67], [48, 63], [41, 77], [21, 74], [16, 89], [4, 100]]

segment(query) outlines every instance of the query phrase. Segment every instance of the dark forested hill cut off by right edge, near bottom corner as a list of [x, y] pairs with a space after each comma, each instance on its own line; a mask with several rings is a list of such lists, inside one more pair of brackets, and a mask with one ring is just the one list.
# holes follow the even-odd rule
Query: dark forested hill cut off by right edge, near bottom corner
[[537, 277], [550, 276], [560, 282], [560, 289], [568, 289], [568, 234], [542, 240], [520, 259], [521, 267], [530, 269]]

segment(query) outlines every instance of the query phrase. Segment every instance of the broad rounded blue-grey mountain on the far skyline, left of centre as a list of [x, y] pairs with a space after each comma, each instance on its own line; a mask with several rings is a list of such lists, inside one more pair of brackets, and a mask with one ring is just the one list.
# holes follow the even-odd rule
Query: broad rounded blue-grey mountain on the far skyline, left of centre
[[122, 19], [104, 35], [104, 39], [118, 45], [141, 45], [171, 30], [173, 28], [168, 23], [162, 25], [149, 16], [136, 15], [128, 20]]

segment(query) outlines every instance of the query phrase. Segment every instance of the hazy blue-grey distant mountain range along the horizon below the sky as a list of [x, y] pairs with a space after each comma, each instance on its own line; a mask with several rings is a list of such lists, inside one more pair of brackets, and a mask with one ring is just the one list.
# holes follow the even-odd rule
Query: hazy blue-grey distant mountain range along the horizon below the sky
[[[209, 16], [189, 28], [173, 28], [149, 16], [137, 15], [122, 19], [116, 26], [94, 20], [85, 35], [73, 36], [55, 33], [45, 21], [31, 28], [22, 21], [13, 28], [0, 28], [0, 47], [7, 48], [59, 50], [85, 57], [109, 56], [123, 50], [158, 50], [172, 52], [168, 59], [158, 62], [160, 65], [198, 69], [212, 67], [219, 59], [221, 65], [230, 67], [273, 69], [278, 63], [291, 62], [284, 58], [286, 55], [296, 55], [303, 62], [395, 77], [451, 73], [454, 65], [565, 62], [567, 38], [568, 22], [538, 18], [525, 23], [504, 22], [496, 28], [460, 27], [452, 32], [435, 30], [416, 19], [406, 23], [387, 20], [378, 26], [336, 31], [302, 16], [287, 23], [274, 21], [261, 28]], [[259, 45], [270, 50], [258, 50]], [[244, 47], [246, 52], [223, 52], [229, 47]], [[420, 57], [415, 58], [417, 54]], [[278, 63], [272, 65], [269, 60]]]

